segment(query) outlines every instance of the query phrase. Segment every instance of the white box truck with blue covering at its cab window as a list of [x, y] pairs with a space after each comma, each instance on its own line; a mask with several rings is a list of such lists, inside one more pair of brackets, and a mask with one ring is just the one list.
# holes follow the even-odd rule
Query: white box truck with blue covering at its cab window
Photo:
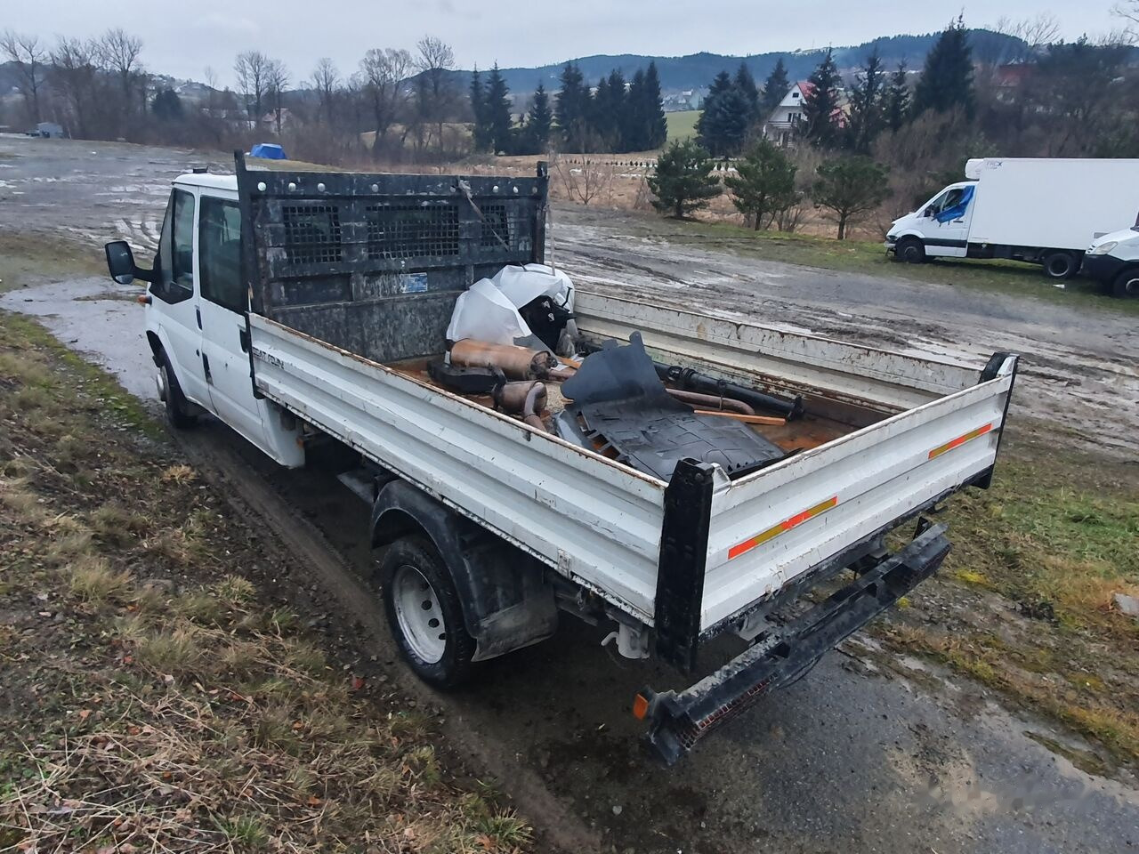
[[899, 220], [886, 251], [927, 257], [1011, 258], [1074, 276], [1091, 241], [1126, 228], [1139, 210], [1139, 159], [970, 159], [966, 181]]

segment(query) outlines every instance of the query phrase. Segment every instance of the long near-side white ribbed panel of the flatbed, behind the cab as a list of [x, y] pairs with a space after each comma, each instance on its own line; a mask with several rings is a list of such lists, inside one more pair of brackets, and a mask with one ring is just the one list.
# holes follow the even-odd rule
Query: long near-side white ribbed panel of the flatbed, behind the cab
[[259, 315], [257, 387], [652, 623], [664, 483]]

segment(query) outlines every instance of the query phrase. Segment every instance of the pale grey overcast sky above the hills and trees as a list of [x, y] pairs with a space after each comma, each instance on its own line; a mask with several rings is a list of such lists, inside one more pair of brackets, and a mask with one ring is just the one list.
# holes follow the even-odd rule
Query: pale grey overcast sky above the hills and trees
[[762, 54], [844, 46], [878, 35], [942, 28], [964, 9], [968, 26], [1001, 16], [1056, 16], [1062, 35], [1118, 26], [1112, 0], [986, 0], [901, 3], [898, 0], [0, 0], [0, 30], [52, 38], [87, 36], [109, 26], [140, 35], [153, 72], [204, 80], [211, 66], [233, 82], [233, 56], [259, 49], [284, 59], [293, 80], [319, 57], [342, 72], [368, 48], [411, 49], [424, 33], [453, 46], [462, 68], [557, 63], [591, 54], [678, 56]]

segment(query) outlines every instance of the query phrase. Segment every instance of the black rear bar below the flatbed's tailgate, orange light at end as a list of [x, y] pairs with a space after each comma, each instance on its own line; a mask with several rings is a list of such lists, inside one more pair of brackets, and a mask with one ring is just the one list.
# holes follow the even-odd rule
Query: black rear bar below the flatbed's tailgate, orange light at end
[[945, 526], [918, 523], [913, 541], [854, 582], [677, 693], [644, 690], [633, 714], [648, 720], [649, 749], [672, 765], [696, 742], [769, 690], [794, 682], [855, 631], [933, 575], [950, 550]]

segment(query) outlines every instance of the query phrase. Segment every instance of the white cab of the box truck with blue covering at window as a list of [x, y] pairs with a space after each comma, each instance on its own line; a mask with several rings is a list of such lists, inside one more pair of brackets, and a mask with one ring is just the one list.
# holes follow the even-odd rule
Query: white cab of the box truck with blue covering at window
[[917, 211], [894, 220], [886, 235], [886, 251], [911, 264], [926, 257], [964, 258], [976, 188], [976, 181], [951, 183]]

